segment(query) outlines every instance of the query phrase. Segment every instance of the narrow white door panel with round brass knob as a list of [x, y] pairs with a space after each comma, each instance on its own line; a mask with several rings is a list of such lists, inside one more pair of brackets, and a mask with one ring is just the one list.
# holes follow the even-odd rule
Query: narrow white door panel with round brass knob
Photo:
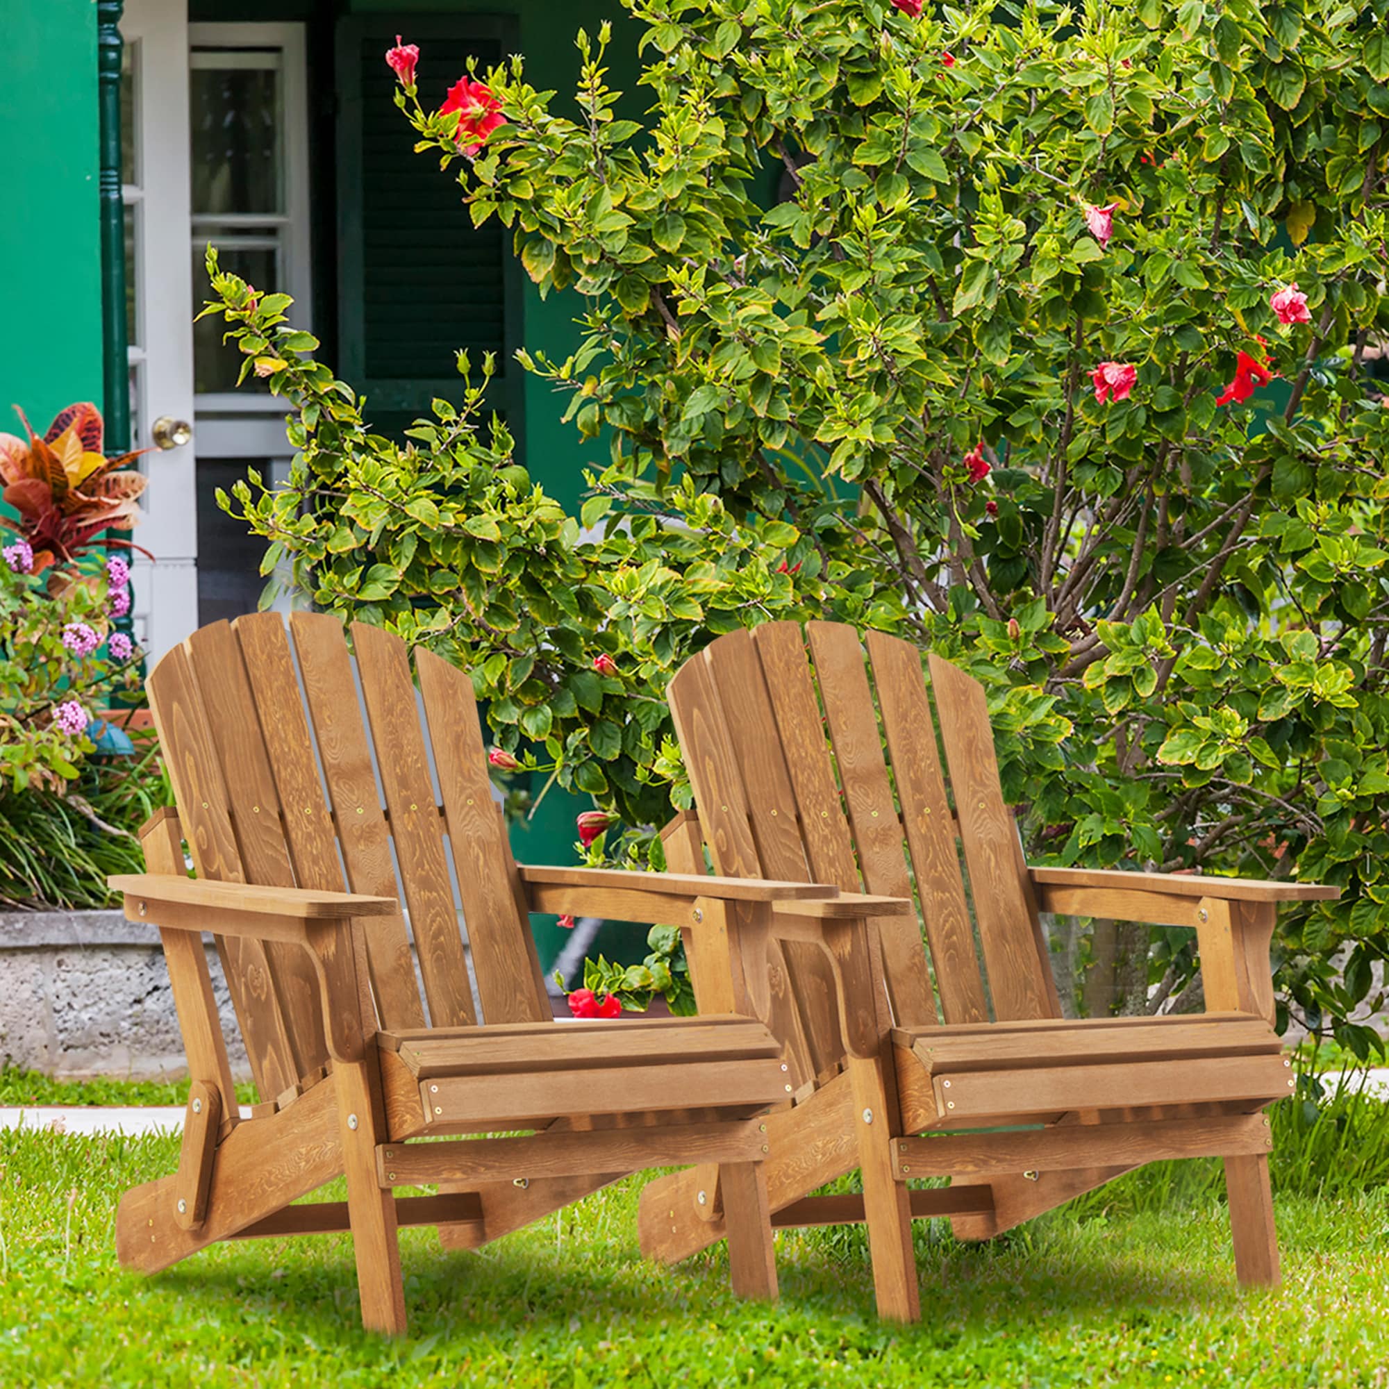
[[126, 0], [121, 33], [131, 442], [150, 450], [132, 539], [154, 556], [136, 553], [133, 615], [136, 638], [157, 660], [197, 626], [188, 0]]

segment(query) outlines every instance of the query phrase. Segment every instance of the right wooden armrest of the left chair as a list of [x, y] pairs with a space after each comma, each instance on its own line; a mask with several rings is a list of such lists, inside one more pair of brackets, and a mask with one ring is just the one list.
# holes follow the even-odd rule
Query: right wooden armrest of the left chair
[[761, 878], [714, 878], [706, 874], [628, 872], [621, 868], [551, 868], [518, 865], [531, 911], [607, 917], [611, 921], [668, 922], [693, 926], [699, 903], [747, 906], [835, 897], [838, 888]]

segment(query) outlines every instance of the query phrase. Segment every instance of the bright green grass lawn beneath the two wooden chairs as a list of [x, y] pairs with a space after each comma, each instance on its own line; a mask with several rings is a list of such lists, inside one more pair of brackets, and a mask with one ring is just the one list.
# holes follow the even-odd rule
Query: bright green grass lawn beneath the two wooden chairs
[[918, 1225], [910, 1328], [875, 1320], [857, 1229], [779, 1235], [775, 1307], [729, 1295], [721, 1250], [644, 1263], [632, 1179], [481, 1254], [403, 1232], [400, 1342], [361, 1331], [344, 1235], [124, 1272], [117, 1199], [172, 1171], [174, 1139], [0, 1133], [0, 1385], [1382, 1386], [1389, 1186], [1365, 1153], [1389, 1147], [1389, 1108], [1357, 1113], [1349, 1143], [1345, 1122], [1301, 1138], [1343, 1142], [1345, 1181], [1279, 1164], [1274, 1292], [1235, 1286], [1214, 1163], [1147, 1170], [986, 1246]]

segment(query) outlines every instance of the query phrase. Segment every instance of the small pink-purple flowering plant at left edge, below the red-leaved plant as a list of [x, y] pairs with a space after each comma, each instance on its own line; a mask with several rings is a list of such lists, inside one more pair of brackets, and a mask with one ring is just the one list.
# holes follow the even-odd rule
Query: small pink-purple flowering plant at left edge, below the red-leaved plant
[[139, 689], [139, 651], [113, 629], [125, 561], [86, 556], [57, 586], [53, 572], [22, 540], [0, 551], [0, 799], [74, 782], [111, 694]]

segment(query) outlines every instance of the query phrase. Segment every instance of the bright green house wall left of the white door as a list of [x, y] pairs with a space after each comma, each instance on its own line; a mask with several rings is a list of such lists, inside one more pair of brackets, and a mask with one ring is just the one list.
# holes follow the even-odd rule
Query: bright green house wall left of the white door
[[6, 4], [0, 82], [0, 431], [101, 399], [96, 6]]

